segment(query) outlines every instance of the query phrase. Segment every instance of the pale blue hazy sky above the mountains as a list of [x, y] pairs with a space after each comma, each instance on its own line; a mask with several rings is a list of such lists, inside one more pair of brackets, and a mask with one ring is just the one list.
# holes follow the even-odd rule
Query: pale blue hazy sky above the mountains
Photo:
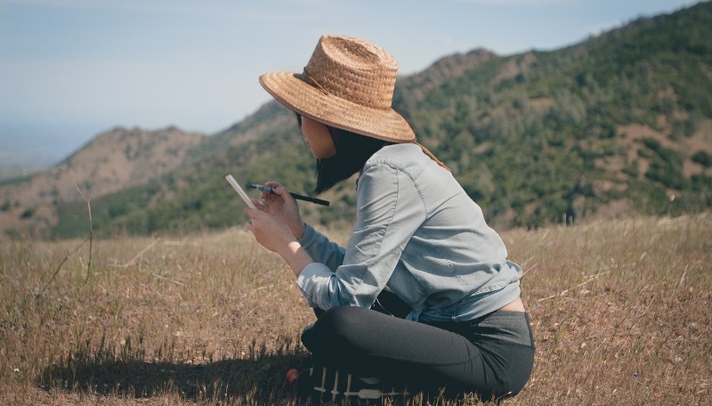
[[212, 134], [267, 102], [257, 77], [301, 70], [322, 34], [366, 38], [409, 74], [478, 47], [557, 49], [695, 3], [0, 0], [0, 143], [60, 127], [74, 140], [113, 126]]

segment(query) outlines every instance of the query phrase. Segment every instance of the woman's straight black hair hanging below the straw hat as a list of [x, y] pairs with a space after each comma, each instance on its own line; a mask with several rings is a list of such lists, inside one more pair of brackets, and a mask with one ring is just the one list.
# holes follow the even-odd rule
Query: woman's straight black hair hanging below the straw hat
[[[302, 115], [296, 114], [297, 124], [302, 126]], [[327, 126], [328, 134], [336, 145], [336, 155], [330, 158], [317, 159], [317, 185], [314, 193], [328, 191], [336, 183], [348, 179], [359, 172], [368, 158], [384, 145], [391, 144], [383, 140], [356, 134], [333, 126]]]

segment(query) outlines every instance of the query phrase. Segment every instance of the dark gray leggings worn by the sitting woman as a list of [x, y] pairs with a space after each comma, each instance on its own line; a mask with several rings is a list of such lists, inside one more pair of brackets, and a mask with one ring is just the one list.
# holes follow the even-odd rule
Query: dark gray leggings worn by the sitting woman
[[429, 325], [341, 306], [321, 313], [302, 342], [315, 364], [452, 398], [517, 394], [534, 362], [529, 316], [521, 312]]

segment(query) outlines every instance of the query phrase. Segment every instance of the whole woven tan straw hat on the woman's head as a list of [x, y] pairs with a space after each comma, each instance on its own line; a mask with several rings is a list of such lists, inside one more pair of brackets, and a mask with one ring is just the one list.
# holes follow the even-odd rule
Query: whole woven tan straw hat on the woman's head
[[308, 118], [390, 142], [415, 142], [405, 118], [391, 108], [398, 62], [355, 37], [324, 36], [303, 73], [274, 72], [260, 84]]

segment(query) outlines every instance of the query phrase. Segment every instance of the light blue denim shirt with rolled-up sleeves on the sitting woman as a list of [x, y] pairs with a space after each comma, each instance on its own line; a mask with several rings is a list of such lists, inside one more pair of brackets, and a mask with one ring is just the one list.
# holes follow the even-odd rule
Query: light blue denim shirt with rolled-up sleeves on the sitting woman
[[299, 240], [315, 261], [297, 286], [312, 307], [370, 307], [389, 289], [412, 321], [470, 321], [520, 295], [522, 268], [455, 178], [417, 144], [368, 159], [345, 248], [307, 225]]

